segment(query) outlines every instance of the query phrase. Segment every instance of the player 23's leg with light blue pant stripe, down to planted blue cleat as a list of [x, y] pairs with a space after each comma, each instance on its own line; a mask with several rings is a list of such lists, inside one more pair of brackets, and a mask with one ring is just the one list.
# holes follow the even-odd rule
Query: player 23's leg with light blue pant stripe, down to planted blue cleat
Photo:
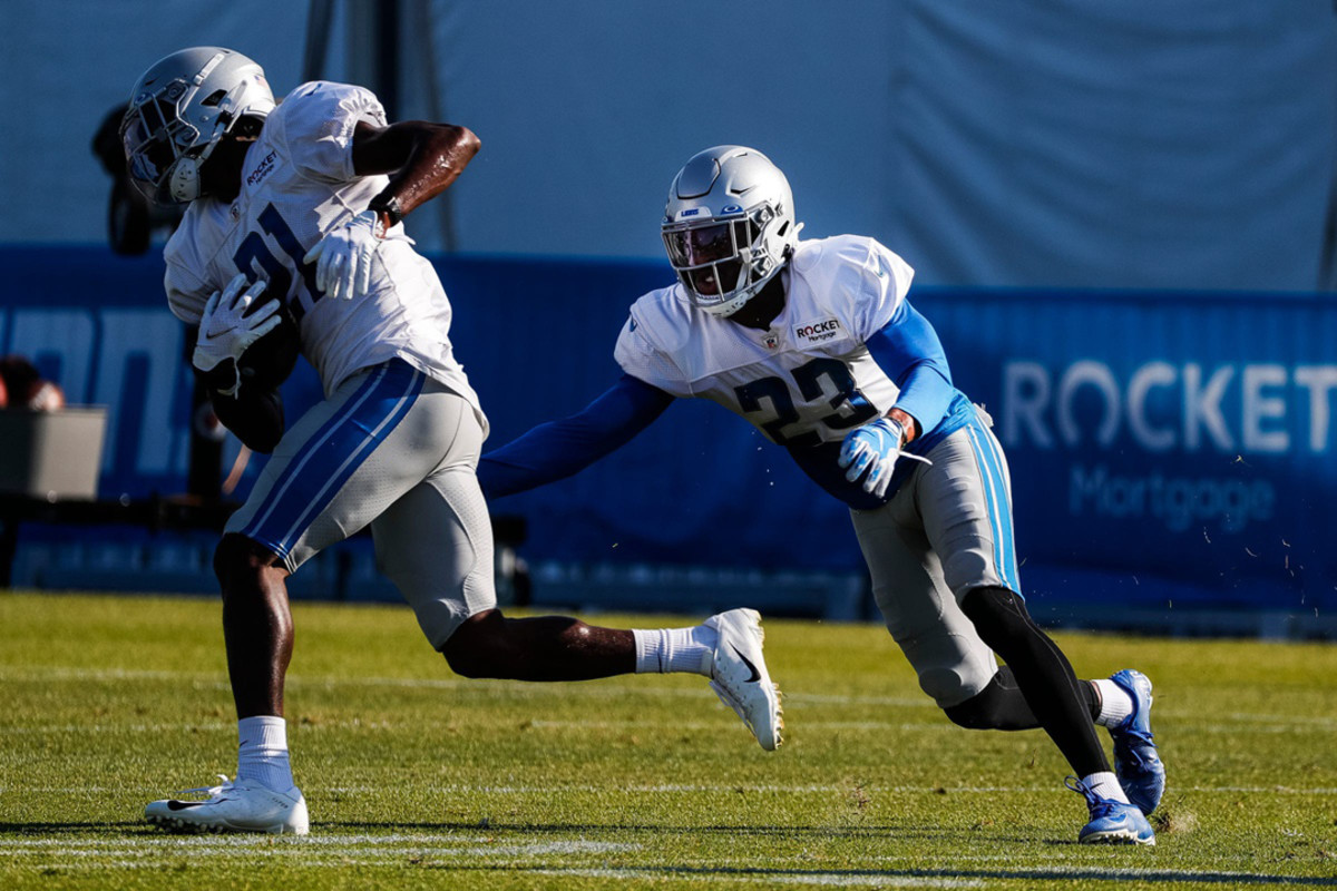
[[1012, 671], [1040, 727], [1090, 792], [1083, 842], [1154, 843], [1150, 824], [1110, 769], [1092, 724], [1092, 688], [1079, 681], [1059, 647], [1031, 618], [1017, 593], [1007, 461], [988, 427], [973, 418], [933, 450], [916, 478], [924, 528], [941, 556], [948, 586], [980, 639]]

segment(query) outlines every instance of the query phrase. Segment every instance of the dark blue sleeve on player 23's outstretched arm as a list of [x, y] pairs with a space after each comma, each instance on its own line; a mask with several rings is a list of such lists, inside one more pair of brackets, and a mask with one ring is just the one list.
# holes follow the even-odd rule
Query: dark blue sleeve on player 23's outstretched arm
[[488, 498], [564, 480], [630, 442], [663, 414], [674, 395], [623, 374], [578, 414], [540, 423], [488, 452], [479, 461], [479, 484]]

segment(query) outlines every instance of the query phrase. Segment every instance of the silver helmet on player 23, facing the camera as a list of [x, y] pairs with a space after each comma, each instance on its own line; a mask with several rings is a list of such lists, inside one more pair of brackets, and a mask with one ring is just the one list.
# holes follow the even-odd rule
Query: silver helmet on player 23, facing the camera
[[755, 148], [715, 146], [674, 176], [662, 234], [691, 302], [733, 315], [798, 244], [789, 180]]

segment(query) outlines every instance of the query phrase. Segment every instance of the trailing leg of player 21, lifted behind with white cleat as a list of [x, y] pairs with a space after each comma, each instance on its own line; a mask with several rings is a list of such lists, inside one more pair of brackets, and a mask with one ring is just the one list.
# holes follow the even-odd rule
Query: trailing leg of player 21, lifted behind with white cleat
[[[465, 677], [588, 680], [695, 672], [763, 748], [779, 744], [779, 697], [762, 657], [759, 617], [737, 609], [694, 628], [624, 631], [564, 616], [511, 618], [496, 608], [492, 529], [475, 466], [483, 434], [453, 394], [436, 401], [455, 430], [447, 460], [372, 525], [377, 560], [413, 606], [428, 641]], [[467, 406], [464, 406], [467, 409]]]

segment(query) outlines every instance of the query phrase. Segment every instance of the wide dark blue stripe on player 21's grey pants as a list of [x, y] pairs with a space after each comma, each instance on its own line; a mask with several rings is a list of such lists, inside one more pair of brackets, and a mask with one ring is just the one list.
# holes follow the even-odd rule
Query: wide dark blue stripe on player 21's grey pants
[[421, 371], [400, 359], [372, 371], [293, 456], [242, 534], [286, 560], [316, 517], [404, 419], [425, 382]]

